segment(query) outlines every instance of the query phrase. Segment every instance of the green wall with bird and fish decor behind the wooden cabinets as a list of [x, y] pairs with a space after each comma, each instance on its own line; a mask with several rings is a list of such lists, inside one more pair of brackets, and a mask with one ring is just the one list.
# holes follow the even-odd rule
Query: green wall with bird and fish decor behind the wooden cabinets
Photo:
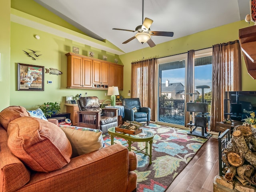
[[[39, 35], [40, 39], [34, 38]], [[108, 53], [90, 46], [74, 42], [47, 32], [42, 32], [18, 23], [11, 22], [11, 59], [10, 59], [10, 105], [21, 105], [26, 109], [36, 109], [44, 102], [59, 102], [62, 112], [66, 111], [64, 106], [66, 96], [76, 94], [98, 96], [99, 99], [108, 99], [105, 96], [107, 90], [77, 90], [67, 89], [67, 52], [72, 52], [73, 46], [78, 47], [80, 54], [88, 55], [92, 50], [95, 58], [102, 58], [102, 54], [108, 56], [108, 60], [114, 62], [115, 54]], [[24, 54], [28, 49], [40, 51], [42, 54], [38, 60], [32, 60]], [[45, 68], [56, 68], [62, 71], [62, 75], [51, 75], [45, 73], [44, 91], [18, 91], [17, 90], [17, 63], [44, 66]], [[52, 84], [47, 84], [52, 81]], [[120, 91], [121, 92], [121, 91]]]

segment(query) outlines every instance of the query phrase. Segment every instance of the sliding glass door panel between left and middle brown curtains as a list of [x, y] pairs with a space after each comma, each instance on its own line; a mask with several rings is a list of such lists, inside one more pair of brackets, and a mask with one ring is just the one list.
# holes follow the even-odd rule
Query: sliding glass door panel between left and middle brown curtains
[[159, 59], [158, 121], [184, 126], [186, 54]]

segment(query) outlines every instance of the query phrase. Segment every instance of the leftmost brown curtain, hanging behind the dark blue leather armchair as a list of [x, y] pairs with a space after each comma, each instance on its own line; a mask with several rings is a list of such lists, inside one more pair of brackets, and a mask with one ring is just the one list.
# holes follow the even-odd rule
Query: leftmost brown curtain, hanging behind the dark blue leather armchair
[[156, 58], [132, 62], [131, 97], [140, 98], [142, 107], [151, 108], [150, 119], [156, 121]]

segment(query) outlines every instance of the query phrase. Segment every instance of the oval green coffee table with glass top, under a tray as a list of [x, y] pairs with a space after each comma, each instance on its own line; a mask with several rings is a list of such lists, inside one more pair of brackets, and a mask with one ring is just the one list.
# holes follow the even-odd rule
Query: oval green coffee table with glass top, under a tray
[[[131, 135], [131, 134], [127, 134], [127, 133], [122, 133], [122, 132], [116, 132], [115, 128], [109, 128], [108, 129], [108, 134], [110, 134], [110, 138], [111, 138], [111, 145], [114, 144], [114, 137], [120, 137], [123, 138], [127, 141], [128, 143], [128, 150], [131, 151], [131, 145], [133, 142], [145, 142], [145, 148], [142, 150], [134, 150], [136, 151], [136, 153], [142, 153], [145, 155], [149, 156], [149, 164], [152, 164], [151, 158], [152, 158], [152, 142], [154, 139], [154, 133], [146, 131], [146, 130], [142, 130], [142, 133], [145, 133], [145, 136], [142, 136], [140, 134], [136, 134], [136, 135]], [[148, 154], [148, 143], [149, 143], [149, 154]], [[143, 152], [143, 150], [145, 150], [145, 152]]]

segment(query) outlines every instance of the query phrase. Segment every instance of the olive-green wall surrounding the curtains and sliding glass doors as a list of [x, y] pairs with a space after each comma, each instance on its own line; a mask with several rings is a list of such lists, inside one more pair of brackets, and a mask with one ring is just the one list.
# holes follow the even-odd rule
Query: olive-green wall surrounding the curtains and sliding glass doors
[[[143, 50], [120, 55], [120, 59], [124, 64], [124, 97], [129, 97], [128, 91], [131, 89], [131, 63], [134, 61], [142, 60], [142, 56], [144, 56], [144, 59], [154, 57], [160, 58], [164, 56], [184, 53], [191, 49], [200, 50], [212, 47], [212, 45], [214, 44], [229, 42], [238, 39], [239, 29], [245, 27], [248, 27], [248, 23], [242, 20], [239, 22], [234, 22], [228, 25], [220, 26], [217, 28], [171, 40], [169, 42], [158, 44], [153, 48], [144, 48]], [[184, 26], [184, 30], [186, 30], [186, 26]], [[157, 37], [154, 36], [152, 38]], [[248, 74], [244, 58], [242, 61], [242, 90], [256, 90], [256, 80], [254, 80]]]

